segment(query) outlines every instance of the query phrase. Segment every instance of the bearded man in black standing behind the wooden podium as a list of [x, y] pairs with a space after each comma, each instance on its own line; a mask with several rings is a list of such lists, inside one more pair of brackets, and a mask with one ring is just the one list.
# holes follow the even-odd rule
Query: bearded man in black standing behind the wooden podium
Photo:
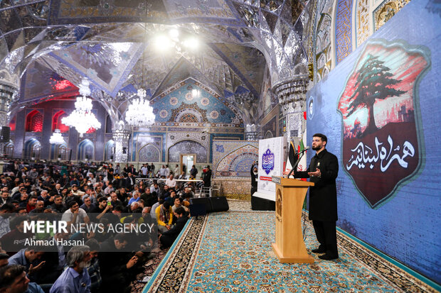
[[294, 172], [296, 178], [309, 178], [314, 187], [309, 187], [309, 219], [319, 241], [319, 248], [313, 253], [322, 260], [339, 258], [336, 238], [337, 191], [336, 177], [339, 173], [337, 157], [326, 150], [328, 139], [322, 133], [314, 134], [312, 150], [316, 151], [307, 171]]

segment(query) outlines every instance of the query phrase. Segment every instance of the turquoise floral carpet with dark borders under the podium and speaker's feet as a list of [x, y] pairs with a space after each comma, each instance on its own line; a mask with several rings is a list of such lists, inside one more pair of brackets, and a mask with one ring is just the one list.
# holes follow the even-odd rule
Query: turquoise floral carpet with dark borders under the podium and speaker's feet
[[[280, 264], [270, 248], [274, 211], [229, 203], [237, 211], [188, 223], [142, 292], [435, 292], [343, 233], [339, 260], [312, 254], [314, 264]], [[307, 248], [316, 248], [308, 221], [306, 235]]]

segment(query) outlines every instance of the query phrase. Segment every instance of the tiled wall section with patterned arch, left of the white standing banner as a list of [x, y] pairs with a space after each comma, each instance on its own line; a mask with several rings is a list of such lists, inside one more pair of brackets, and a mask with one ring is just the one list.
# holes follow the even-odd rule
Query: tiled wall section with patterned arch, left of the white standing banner
[[250, 177], [250, 169], [257, 160], [258, 143], [249, 141], [213, 141], [214, 177]]

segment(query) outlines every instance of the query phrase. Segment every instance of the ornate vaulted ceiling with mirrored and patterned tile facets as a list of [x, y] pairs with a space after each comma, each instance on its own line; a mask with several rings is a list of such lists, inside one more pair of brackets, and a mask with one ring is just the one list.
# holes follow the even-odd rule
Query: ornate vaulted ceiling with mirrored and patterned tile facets
[[[87, 76], [100, 92], [95, 98], [107, 101], [140, 87], [154, 97], [192, 77], [221, 96], [235, 95], [240, 109], [240, 99], [257, 104], [265, 64], [277, 82], [294, 62], [306, 61], [302, 28], [311, 9], [305, 6], [290, 0], [0, 1], [0, 79], [26, 88], [16, 101], [23, 104], [57, 95], [33, 82], [36, 68], [66, 79], [64, 95], [75, 94], [73, 85]], [[179, 31], [171, 48], [157, 50], [157, 35], [171, 30]], [[198, 39], [198, 50], [185, 48], [188, 37]]]

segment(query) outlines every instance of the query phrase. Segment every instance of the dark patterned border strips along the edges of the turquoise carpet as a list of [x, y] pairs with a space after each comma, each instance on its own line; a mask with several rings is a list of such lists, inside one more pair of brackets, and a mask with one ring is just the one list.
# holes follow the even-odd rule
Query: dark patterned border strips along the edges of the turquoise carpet
[[[274, 211], [228, 211], [229, 213], [260, 213], [268, 214]], [[302, 212], [302, 218], [307, 216], [307, 211]], [[188, 221], [186, 227], [179, 235], [179, 241], [171, 246], [159, 267], [152, 275], [152, 279], [144, 287], [142, 293], [147, 292], [186, 292], [191, 280], [191, 272], [196, 265], [196, 255], [201, 245], [203, 231], [208, 223], [209, 215], [202, 219]], [[309, 228], [312, 228], [312, 221], [305, 221]], [[405, 292], [437, 292], [437, 289], [430, 287], [430, 280], [426, 284], [425, 277], [419, 275], [408, 267], [400, 265], [387, 255], [375, 248], [363, 243], [349, 233], [337, 228], [337, 242], [339, 249], [356, 258], [366, 270], [381, 275], [384, 282], [398, 290]], [[433, 284], [437, 287], [436, 284]]]

